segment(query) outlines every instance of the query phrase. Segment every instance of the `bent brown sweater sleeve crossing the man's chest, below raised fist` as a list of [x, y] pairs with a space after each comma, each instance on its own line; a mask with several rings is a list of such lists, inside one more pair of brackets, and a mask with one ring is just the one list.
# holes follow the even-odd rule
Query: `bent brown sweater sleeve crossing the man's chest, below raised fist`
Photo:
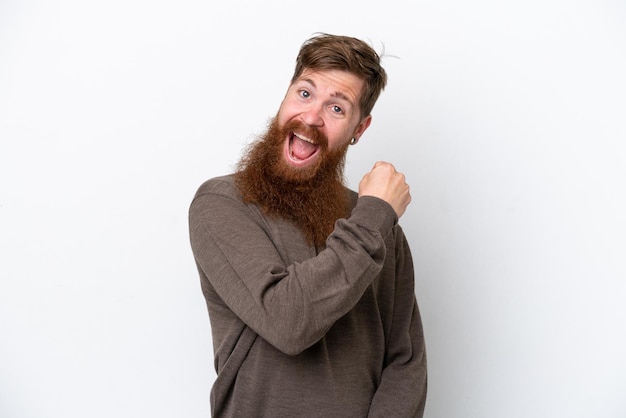
[[359, 198], [350, 218], [336, 222], [323, 251], [286, 264], [263, 217], [228, 187], [213, 182], [191, 203], [198, 268], [241, 321], [278, 350], [299, 354], [356, 305], [378, 274], [395, 212], [380, 199]]

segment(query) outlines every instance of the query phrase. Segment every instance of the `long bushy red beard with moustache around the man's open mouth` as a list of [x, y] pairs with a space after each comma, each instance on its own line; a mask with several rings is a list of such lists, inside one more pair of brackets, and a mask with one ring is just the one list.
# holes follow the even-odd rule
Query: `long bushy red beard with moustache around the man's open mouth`
[[[284, 160], [284, 141], [293, 131], [320, 145], [317, 165], [298, 169]], [[269, 216], [292, 221], [310, 244], [323, 246], [335, 221], [349, 215], [349, 195], [343, 185], [347, 147], [328, 151], [328, 140], [317, 130], [297, 122], [280, 127], [272, 119], [267, 132], [239, 161], [235, 179], [243, 201], [258, 205]]]

